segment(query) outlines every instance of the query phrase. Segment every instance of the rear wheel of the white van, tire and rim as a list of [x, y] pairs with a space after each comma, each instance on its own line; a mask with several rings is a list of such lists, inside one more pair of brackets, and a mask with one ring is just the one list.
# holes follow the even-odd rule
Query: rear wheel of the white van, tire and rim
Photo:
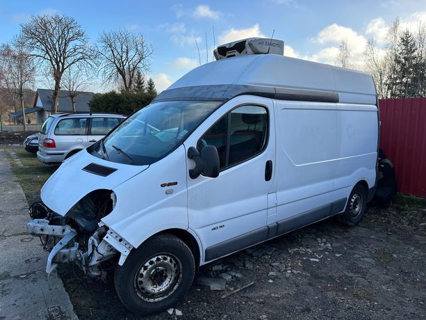
[[353, 227], [360, 223], [367, 210], [367, 190], [361, 184], [357, 184], [350, 193], [345, 212], [341, 214], [341, 222]]

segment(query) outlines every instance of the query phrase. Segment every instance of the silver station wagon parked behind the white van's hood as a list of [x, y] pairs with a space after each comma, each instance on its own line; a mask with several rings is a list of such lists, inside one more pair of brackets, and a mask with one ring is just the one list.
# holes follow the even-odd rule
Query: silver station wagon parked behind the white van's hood
[[99, 141], [126, 117], [108, 113], [63, 113], [44, 121], [37, 157], [42, 163], [61, 163]]

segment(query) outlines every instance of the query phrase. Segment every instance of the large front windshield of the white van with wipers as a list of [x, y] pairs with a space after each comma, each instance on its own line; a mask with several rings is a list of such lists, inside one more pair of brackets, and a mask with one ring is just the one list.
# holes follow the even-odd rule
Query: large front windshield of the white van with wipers
[[103, 143], [88, 148], [95, 157], [148, 165], [172, 152], [222, 102], [167, 101], [145, 106], [124, 120]]

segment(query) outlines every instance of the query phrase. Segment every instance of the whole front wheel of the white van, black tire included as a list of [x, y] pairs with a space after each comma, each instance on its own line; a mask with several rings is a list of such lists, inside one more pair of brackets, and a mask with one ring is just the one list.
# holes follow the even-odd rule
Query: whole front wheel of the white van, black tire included
[[[145, 316], [163, 312], [181, 301], [194, 275], [190, 248], [173, 234], [164, 233], [149, 238], [133, 250], [123, 266], [115, 268], [114, 284], [123, 305]], [[153, 292], [163, 285], [162, 292]]]

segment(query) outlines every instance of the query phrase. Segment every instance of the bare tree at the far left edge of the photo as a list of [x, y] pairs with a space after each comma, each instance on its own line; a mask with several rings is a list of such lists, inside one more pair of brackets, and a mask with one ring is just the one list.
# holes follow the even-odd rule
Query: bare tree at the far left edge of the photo
[[19, 102], [22, 110], [24, 131], [26, 131], [26, 117], [24, 95], [25, 90], [34, 81], [35, 64], [33, 57], [25, 50], [22, 36], [16, 37], [12, 45], [3, 45], [0, 49], [0, 74], [8, 93], [13, 101]]

